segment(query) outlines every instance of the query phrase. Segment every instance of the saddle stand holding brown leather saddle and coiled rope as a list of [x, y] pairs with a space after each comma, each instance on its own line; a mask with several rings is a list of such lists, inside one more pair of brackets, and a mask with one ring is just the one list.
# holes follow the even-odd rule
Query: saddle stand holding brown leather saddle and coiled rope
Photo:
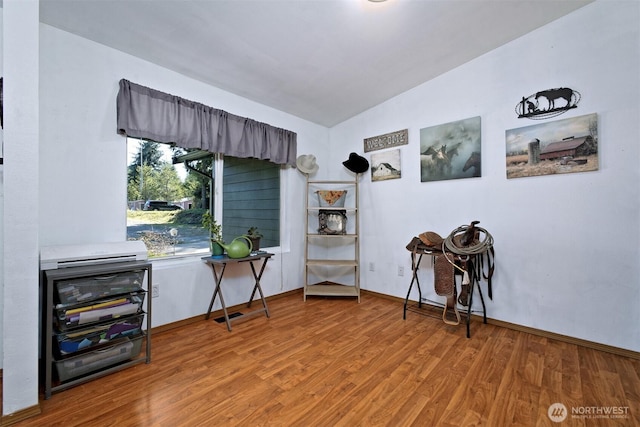
[[[446, 298], [442, 309], [442, 321], [447, 325], [460, 324], [458, 305], [466, 307], [467, 338], [471, 337], [469, 322], [473, 304], [474, 289], [478, 289], [482, 302], [483, 323], [487, 323], [487, 309], [480, 287], [482, 279], [487, 281], [489, 299], [493, 299], [491, 278], [495, 265], [493, 237], [487, 230], [478, 227], [479, 221], [470, 225], [462, 225], [453, 230], [449, 236], [442, 238], [438, 233], [426, 231], [411, 239], [407, 250], [411, 252], [411, 268], [413, 275], [409, 291], [404, 301], [403, 319], [407, 318], [409, 295], [415, 283], [418, 288], [418, 308], [422, 308], [422, 290], [418, 279], [418, 269], [423, 255], [431, 255], [433, 259], [433, 286], [436, 295]], [[456, 276], [461, 276], [460, 291]], [[435, 302], [440, 305], [440, 303]]]

